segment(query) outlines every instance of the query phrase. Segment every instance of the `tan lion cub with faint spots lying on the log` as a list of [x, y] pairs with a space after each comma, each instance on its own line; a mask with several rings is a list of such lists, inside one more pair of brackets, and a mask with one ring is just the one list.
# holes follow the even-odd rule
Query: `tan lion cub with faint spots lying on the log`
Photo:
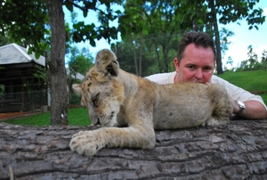
[[150, 149], [155, 145], [154, 129], [223, 125], [232, 112], [223, 86], [158, 85], [119, 69], [115, 54], [106, 49], [73, 88], [82, 94], [93, 125], [102, 126], [72, 136], [70, 149], [87, 156], [104, 147]]

